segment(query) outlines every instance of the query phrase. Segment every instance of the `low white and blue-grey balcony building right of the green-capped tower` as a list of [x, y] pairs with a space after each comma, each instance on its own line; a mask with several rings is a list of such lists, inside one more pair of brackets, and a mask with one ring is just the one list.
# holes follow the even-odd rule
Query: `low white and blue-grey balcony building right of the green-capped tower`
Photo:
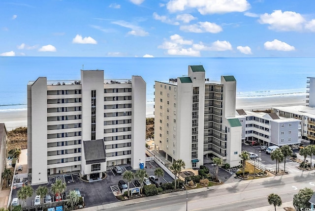
[[236, 110], [242, 124], [244, 142], [260, 145], [293, 145], [301, 143], [301, 121], [279, 117], [275, 113]]

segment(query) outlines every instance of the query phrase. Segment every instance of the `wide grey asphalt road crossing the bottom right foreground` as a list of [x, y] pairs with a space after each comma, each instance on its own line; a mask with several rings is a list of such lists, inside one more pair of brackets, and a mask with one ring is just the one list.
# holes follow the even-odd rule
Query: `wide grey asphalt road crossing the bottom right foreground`
[[[189, 190], [189, 211], [244, 211], [269, 206], [267, 196], [270, 193], [279, 194], [284, 202], [293, 200], [293, 195], [304, 187], [315, 189], [315, 174], [301, 172], [272, 178], [262, 178], [254, 181], [240, 181], [236, 183], [214, 186], [209, 189]], [[194, 191], [202, 191], [195, 193]], [[122, 206], [122, 207], [120, 207]], [[185, 211], [186, 193], [165, 194], [164, 197], [147, 197], [132, 200], [128, 204], [114, 203], [110, 207], [98, 207], [98, 211]], [[95, 208], [96, 209], [96, 208]], [[85, 211], [83, 209], [82, 211]], [[86, 210], [90, 211], [90, 210]]]

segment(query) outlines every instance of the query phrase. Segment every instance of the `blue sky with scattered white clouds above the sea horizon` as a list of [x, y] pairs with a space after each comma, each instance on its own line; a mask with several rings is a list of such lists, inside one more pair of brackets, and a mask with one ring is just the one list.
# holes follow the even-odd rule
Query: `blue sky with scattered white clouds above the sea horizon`
[[0, 56], [314, 57], [315, 0], [0, 0]]

